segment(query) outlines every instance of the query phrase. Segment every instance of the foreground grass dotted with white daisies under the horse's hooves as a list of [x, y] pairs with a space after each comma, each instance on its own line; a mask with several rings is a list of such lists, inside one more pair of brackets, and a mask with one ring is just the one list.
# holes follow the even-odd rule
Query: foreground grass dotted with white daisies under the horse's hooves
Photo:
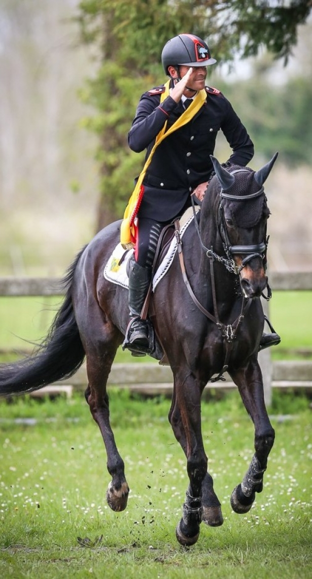
[[126, 511], [115, 514], [105, 503], [100, 432], [82, 397], [0, 403], [1, 577], [311, 577], [309, 401], [274, 394], [276, 444], [263, 493], [247, 515], [234, 514], [229, 500], [253, 453], [253, 426], [236, 393], [203, 404], [204, 444], [225, 522], [218, 529], [202, 524], [190, 549], [175, 539], [188, 478], [167, 422], [169, 404], [112, 391], [112, 424], [131, 488]]

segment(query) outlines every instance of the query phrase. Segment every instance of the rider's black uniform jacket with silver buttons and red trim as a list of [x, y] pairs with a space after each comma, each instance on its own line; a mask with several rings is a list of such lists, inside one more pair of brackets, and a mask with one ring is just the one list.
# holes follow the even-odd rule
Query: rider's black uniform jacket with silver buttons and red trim
[[[157, 146], [143, 181], [139, 218], [168, 221], [190, 204], [192, 190], [210, 178], [210, 155], [220, 129], [233, 151], [230, 163], [245, 166], [252, 159], [254, 145], [230, 102], [216, 89], [205, 90], [207, 98], [200, 111]], [[177, 104], [170, 96], [160, 104], [163, 91], [160, 86], [142, 94], [129, 131], [130, 149], [147, 149], [146, 157], [166, 120], [169, 128], [184, 111], [182, 101]]]

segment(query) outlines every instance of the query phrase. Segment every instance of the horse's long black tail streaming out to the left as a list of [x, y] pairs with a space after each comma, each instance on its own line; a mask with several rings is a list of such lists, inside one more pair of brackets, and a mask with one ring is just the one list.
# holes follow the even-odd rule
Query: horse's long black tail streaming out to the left
[[36, 345], [30, 356], [12, 364], [0, 364], [0, 396], [39, 390], [47, 384], [69, 378], [82, 365], [85, 350], [71, 299], [72, 280], [82, 252], [76, 256], [61, 282], [66, 290], [65, 298], [46, 338]]

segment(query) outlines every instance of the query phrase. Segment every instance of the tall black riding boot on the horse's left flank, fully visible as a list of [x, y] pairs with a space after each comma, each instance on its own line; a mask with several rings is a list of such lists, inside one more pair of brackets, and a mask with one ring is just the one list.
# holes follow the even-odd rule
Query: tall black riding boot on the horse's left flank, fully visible
[[140, 350], [149, 346], [149, 331], [146, 320], [141, 320], [142, 307], [151, 283], [151, 267], [142, 267], [131, 260], [129, 272], [129, 309], [133, 322], [129, 328], [129, 349], [131, 345]]

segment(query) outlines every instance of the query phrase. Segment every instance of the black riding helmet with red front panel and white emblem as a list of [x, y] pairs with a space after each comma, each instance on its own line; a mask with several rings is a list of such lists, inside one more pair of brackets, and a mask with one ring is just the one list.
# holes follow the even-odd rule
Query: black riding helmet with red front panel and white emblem
[[161, 63], [168, 75], [169, 66], [205, 67], [216, 63], [216, 60], [211, 58], [207, 44], [199, 36], [179, 34], [164, 45]]

